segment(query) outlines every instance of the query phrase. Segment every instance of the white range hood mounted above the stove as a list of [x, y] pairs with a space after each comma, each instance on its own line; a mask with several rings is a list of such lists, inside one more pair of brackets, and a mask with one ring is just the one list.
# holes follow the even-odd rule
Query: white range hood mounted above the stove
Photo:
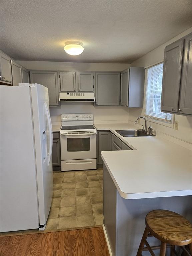
[[60, 92], [59, 101], [95, 101], [95, 96], [93, 92]]

